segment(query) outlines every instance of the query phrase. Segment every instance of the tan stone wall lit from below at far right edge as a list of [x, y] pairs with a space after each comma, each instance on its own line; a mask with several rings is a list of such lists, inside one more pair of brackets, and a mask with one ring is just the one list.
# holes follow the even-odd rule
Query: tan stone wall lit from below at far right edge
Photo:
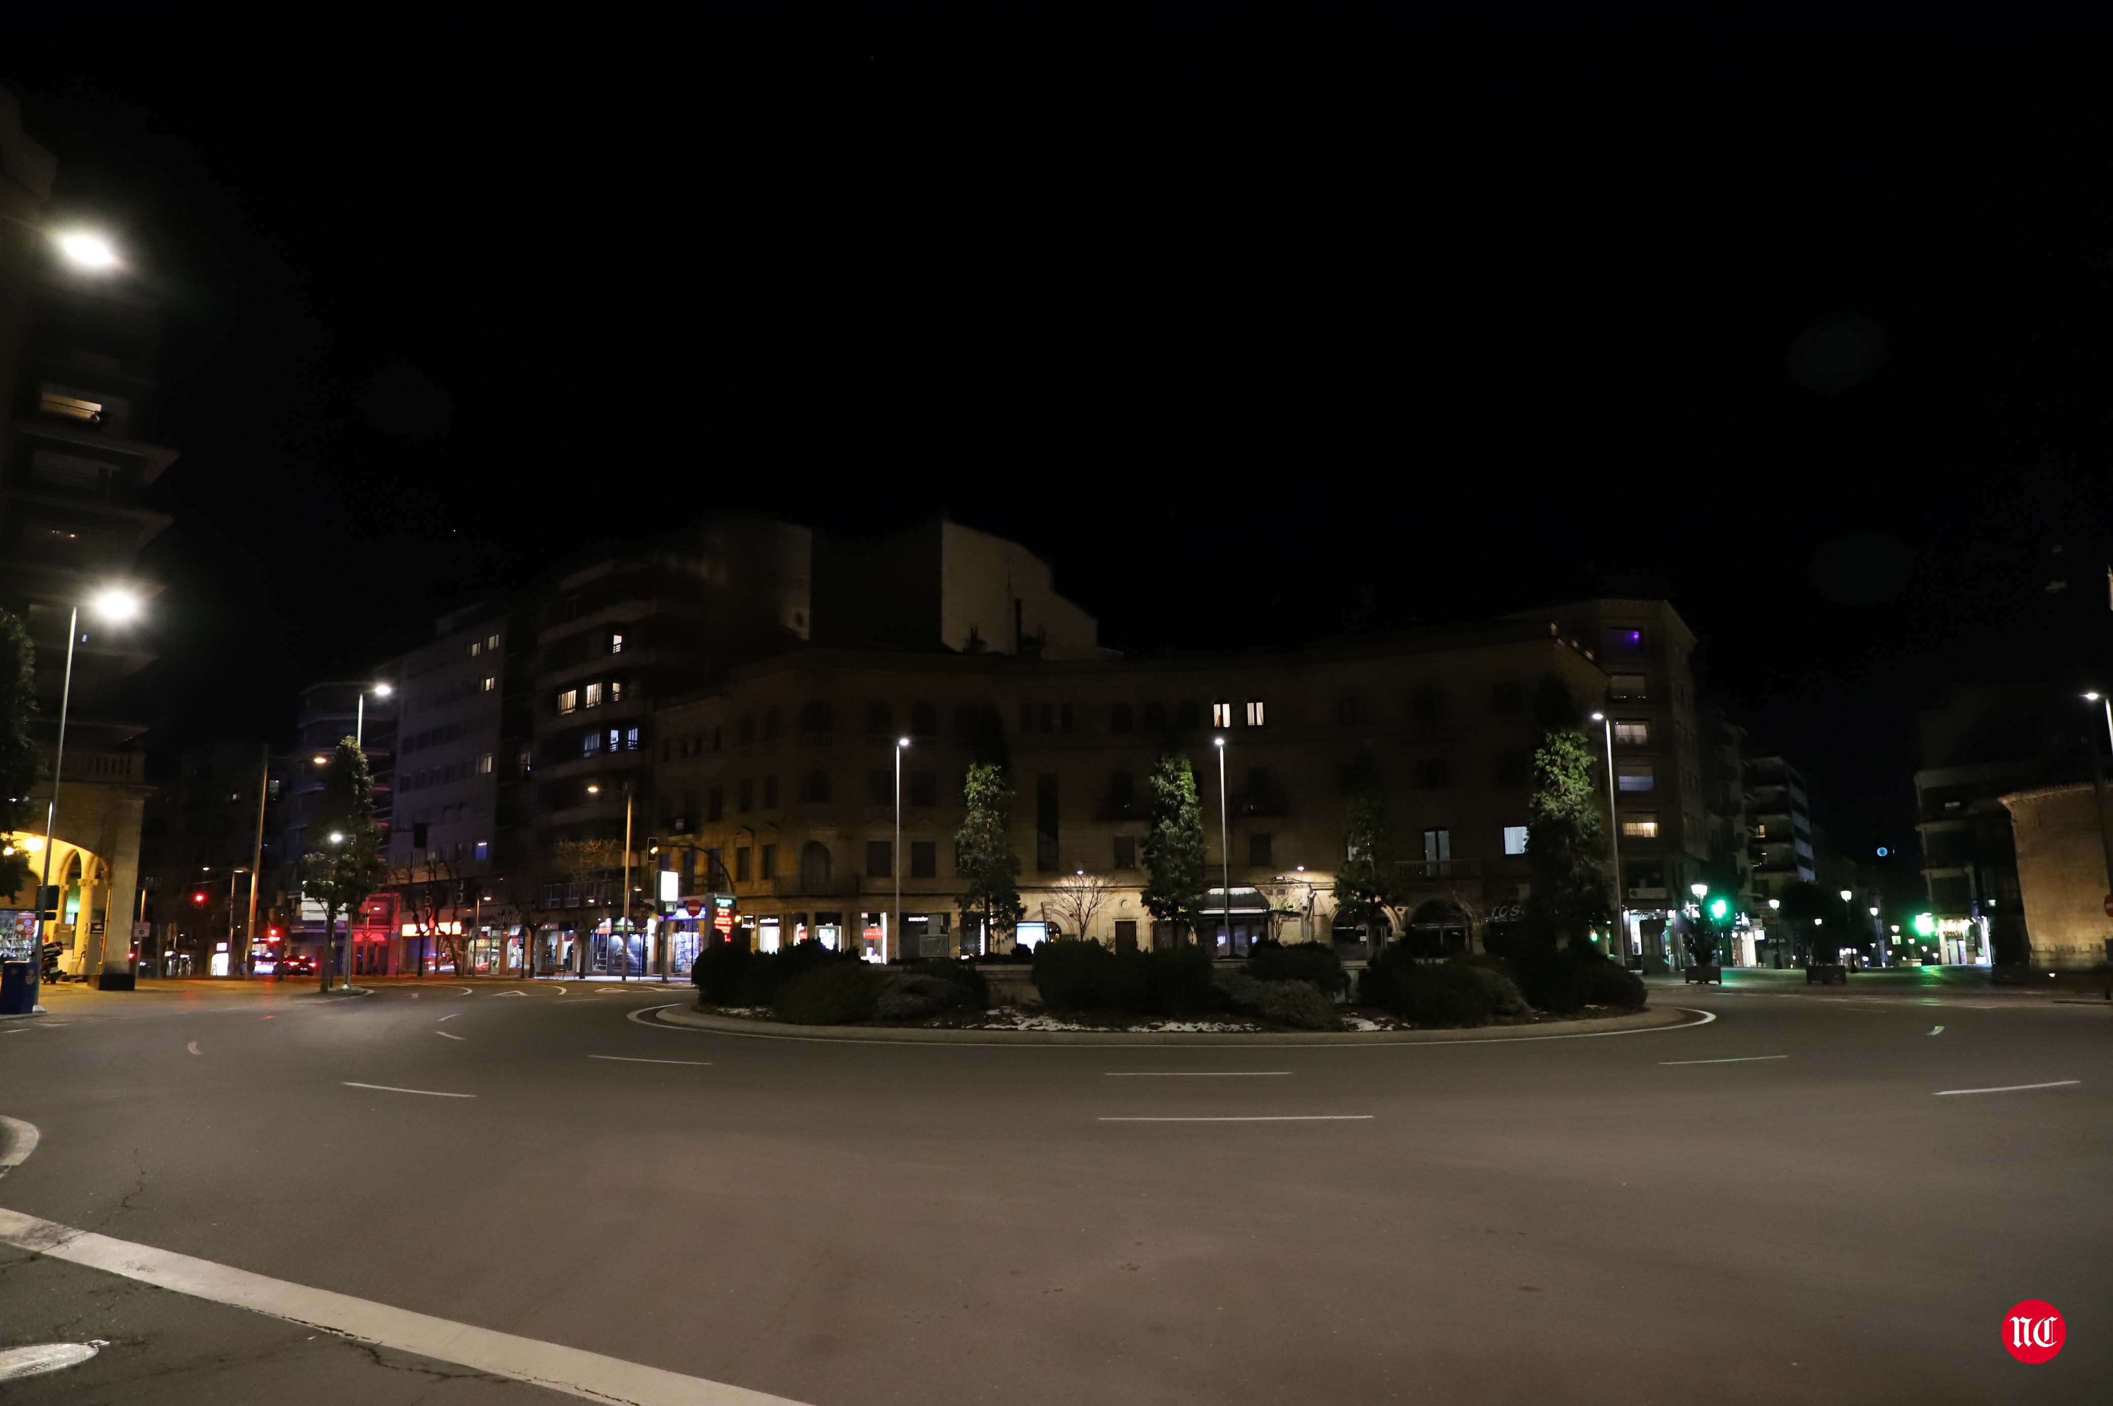
[[2086, 784], [2001, 797], [2018, 841], [2018, 884], [2033, 966], [2086, 968], [2107, 956], [2107, 856], [2098, 806]]

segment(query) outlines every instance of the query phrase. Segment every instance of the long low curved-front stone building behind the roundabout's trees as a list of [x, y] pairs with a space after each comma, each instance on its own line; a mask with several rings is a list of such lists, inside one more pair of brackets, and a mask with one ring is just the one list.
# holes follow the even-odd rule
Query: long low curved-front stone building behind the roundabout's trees
[[[1346, 778], [1367, 763], [1418, 896], [1405, 932], [1390, 937], [1464, 949], [1519, 915], [1534, 704], [1551, 687], [1589, 708], [1608, 677], [1547, 619], [1194, 662], [799, 651], [655, 715], [651, 833], [666, 877], [651, 888], [676, 894], [666, 907], [687, 935], [678, 945], [723, 911], [765, 949], [816, 937], [873, 956], [980, 951], [985, 935], [964, 930], [953, 909], [953, 833], [964, 772], [1002, 736], [1027, 901], [1021, 941], [1076, 935], [1065, 888], [1088, 873], [1109, 894], [1086, 937], [1168, 943], [1141, 884], [1149, 774], [1173, 746], [1196, 774], [1211, 865], [1230, 873], [1230, 901], [1223, 882], [1213, 886], [1223, 951], [1272, 932], [1376, 937], [1333, 922]], [[733, 909], [714, 909], [727, 894]]]

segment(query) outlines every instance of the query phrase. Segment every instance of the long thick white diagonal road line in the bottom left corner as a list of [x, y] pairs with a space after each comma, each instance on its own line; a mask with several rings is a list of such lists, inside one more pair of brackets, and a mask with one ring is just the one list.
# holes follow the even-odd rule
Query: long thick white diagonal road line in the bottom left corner
[[794, 1406], [788, 1398], [748, 1391], [702, 1376], [682, 1376], [640, 1362], [604, 1357], [577, 1347], [518, 1338], [511, 1332], [456, 1324], [393, 1309], [351, 1294], [254, 1275], [135, 1241], [76, 1231], [21, 1211], [0, 1209], [0, 1243], [70, 1264], [99, 1269], [190, 1298], [264, 1313], [292, 1324], [376, 1343], [399, 1353], [452, 1362], [478, 1372], [524, 1381], [592, 1402], [634, 1406]]

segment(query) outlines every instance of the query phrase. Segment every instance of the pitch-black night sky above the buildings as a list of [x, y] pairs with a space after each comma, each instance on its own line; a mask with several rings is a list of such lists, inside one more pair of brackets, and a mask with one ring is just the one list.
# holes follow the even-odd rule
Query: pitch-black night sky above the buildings
[[1130, 649], [1661, 592], [1845, 848], [1946, 679], [2088, 670], [2090, 6], [1291, 8], [19, 8], [171, 311], [169, 736], [733, 510], [947, 510]]

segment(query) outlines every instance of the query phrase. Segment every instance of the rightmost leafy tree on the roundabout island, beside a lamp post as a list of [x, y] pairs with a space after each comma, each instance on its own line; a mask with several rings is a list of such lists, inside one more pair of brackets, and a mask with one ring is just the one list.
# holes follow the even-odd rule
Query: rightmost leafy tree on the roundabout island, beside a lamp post
[[1583, 732], [1549, 729], [1534, 751], [1534, 795], [1528, 801], [1526, 865], [1532, 894], [1526, 928], [1547, 945], [1591, 951], [1591, 930], [1610, 922], [1600, 765]]

